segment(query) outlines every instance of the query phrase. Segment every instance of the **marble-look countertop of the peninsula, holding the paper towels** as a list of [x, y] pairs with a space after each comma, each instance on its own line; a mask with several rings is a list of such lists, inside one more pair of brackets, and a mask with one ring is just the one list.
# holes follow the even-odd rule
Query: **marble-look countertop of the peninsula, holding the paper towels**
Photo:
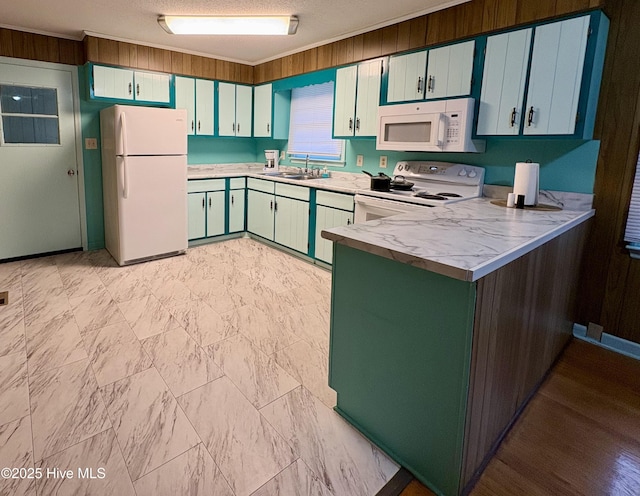
[[322, 237], [463, 281], [476, 281], [594, 215], [504, 208], [487, 198], [322, 231]]

